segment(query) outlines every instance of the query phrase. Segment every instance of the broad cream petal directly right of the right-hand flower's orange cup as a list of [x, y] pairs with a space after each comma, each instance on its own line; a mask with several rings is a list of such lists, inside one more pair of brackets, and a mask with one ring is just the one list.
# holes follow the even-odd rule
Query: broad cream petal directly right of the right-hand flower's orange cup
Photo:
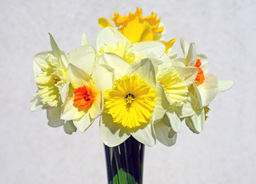
[[201, 95], [202, 107], [208, 106], [218, 94], [218, 78], [213, 74], [204, 74], [204, 81], [197, 86]]

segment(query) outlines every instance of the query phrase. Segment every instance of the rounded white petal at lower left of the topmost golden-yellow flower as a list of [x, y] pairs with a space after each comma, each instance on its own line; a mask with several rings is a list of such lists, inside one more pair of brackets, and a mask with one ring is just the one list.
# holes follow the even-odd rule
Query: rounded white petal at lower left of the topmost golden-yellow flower
[[96, 48], [100, 49], [104, 44], [117, 44], [119, 40], [128, 40], [115, 28], [107, 27], [101, 29], [99, 31], [97, 40], [96, 40]]

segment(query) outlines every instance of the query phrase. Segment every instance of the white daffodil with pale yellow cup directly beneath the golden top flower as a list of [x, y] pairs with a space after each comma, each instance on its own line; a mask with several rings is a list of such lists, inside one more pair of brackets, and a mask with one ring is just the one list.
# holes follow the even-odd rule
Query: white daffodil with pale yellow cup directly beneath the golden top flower
[[104, 53], [118, 54], [121, 58], [133, 64], [142, 58], [150, 58], [158, 70], [158, 65], [162, 64], [161, 58], [165, 54], [165, 44], [160, 41], [143, 41], [131, 44], [124, 35], [115, 28], [103, 28], [97, 36], [96, 48], [98, 57]]

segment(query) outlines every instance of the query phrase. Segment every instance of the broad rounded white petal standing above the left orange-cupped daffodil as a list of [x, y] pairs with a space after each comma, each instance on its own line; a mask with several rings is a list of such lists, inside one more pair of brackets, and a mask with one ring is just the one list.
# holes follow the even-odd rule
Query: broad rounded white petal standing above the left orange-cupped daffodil
[[91, 74], [95, 68], [96, 54], [95, 48], [91, 45], [84, 45], [68, 53], [68, 60], [71, 64], [81, 68]]

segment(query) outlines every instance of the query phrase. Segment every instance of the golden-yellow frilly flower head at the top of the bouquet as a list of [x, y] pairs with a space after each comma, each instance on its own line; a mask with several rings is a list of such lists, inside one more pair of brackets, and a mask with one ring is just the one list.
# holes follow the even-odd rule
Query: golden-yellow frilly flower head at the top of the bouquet
[[[155, 41], [158, 40], [159, 35], [164, 31], [164, 27], [158, 27], [161, 18], [157, 18], [154, 12], [151, 15], [142, 18], [142, 9], [137, 8], [135, 13], [121, 16], [117, 12], [114, 13], [114, 18], [111, 21], [115, 22], [118, 30], [128, 38], [131, 43], [140, 41]], [[101, 28], [112, 26], [107, 19], [99, 18], [98, 20]]]

